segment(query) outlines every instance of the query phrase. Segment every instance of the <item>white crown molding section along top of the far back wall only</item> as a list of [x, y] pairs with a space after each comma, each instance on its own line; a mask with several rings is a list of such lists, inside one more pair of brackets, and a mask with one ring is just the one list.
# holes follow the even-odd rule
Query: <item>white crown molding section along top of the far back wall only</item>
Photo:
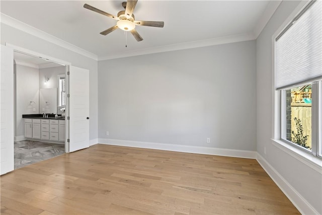
[[207, 40], [198, 40], [198, 41], [187, 42], [187, 43], [178, 43], [173, 45], [165, 45], [165, 46], [158, 46], [158, 47], [152, 47], [152, 48], [146, 48], [146, 49], [140, 49], [140, 50], [127, 51], [119, 54], [106, 55], [102, 57], [99, 56], [98, 60], [109, 60], [109, 59], [137, 56], [137, 55], [144, 55], [144, 54], [153, 54], [153, 53], [159, 53], [159, 52], [199, 48], [199, 47], [219, 45], [219, 44], [225, 44], [225, 43], [242, 42], [242, 41], [248, 41], [248, 40], [254, 40], [254, 39], [256, 38], [254, 37], [253, 34], [239, 34], [239, 35], [232, 35], [227, 37], [218, 37], [218, 38], [212, 38]]

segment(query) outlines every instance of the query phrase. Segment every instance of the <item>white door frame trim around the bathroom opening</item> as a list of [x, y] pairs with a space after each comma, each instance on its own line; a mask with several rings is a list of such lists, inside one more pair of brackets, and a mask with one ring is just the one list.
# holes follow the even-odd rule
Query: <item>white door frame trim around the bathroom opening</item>
[[[5, 43], [6, 46], [12, 48], [16, 52], [20, 52], [22, 54], [27, 54], [33, 57], [42, 58], [47, 61], [55, 62], [61, 65], [65, 66], [65, 77], [67, 78], [67, 72], [69, 71], [69, 67], [71, 66], [71, 63], [68, 61], [64, 61], [55, 57], [51, 57], [42, 53], [38, 53], [23, 47], [19, 47], [10, 43]], [[68, 78], [69, 79], [69, 78]], [[69, 80], [66, 80], [66, 95], [69, 94]], [[16, 102], [14, 102], [14, 105], [17, 105]], [[66, 98], [66, 105], [65, 105], [65, 153], [69, 153], [69, 142], [67, 139], [69, 139], [69, 121], [67, 120], [67, 116], [69, 116], [69, 99]], [[14, 120], [16, 120], [16, 115], [14, 116]], [[16, 128], [14, 128], [15, 130]]]

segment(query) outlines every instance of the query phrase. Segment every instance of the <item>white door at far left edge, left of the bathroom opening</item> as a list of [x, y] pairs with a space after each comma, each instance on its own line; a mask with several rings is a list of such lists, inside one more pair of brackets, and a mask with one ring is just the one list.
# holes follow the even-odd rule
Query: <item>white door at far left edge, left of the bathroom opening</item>
[[14, 170], [14, 50], [1, 45], [1, 175]]

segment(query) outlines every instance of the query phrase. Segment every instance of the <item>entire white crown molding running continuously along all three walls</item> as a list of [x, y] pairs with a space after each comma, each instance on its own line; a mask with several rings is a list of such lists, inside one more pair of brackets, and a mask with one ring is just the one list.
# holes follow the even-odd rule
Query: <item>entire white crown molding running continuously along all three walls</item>
[[178, 43], [172, 45], [165, 45], [165, 46], [157, 46], [151, 47], [146, 49], [139, 49], [133, 51], [126, 51], [117, 54], [110, 54], [105, 56], [98, 56], [92, 52], [89, 52], [85, 49], [79, 48], [75, 45], [72, 45], [64, 40], [61, 40], [53, 35], [50, 35], [46, 32], [43, 32], [39, 29], [36, 29], [30, 25], [27, 25], [19, 20], [16, 20], [10, 16], [7, 16], [1, 13], [1, 22], [17, 28], [21, 31], [27, 32], [31, 35], [44, 39], [48, 42], [53, 44], [59, 45], [63, 48], [69, 49], [73, 52], [78, 54], [87, 56], [94, 60], [108, 60], [108, 59], [115, 59], [115, 58], [122, 58], [122, 57], [130, 57], [130, 56], [137, 56], [137, 55], [144, 55], [144, 54], [152, 54], [152, 53], [159, 53], [159, 52], [167, 52], [167, 51], [175, 51], [175, 50], [183, 50], [183, 49], [190, 49], [190, 48], [198, 48], [198, 47], [205, 47], [205, 46], [212, 46], [212, 45], [219, 45], [219, 44], [226, 44], [226, 43], [233, 43], [233, 42], [241, 42], [241, 41], [248, 41], [248, 40], [255, 40], [260, 35], [270, 18], [273, 16], [274, 12], [281, 4], [281, 0], [277, 1], [270, 1], [262, 14], [261, 18], [257, 22], [253, 32], [246, 33], [246, 34], [239, 34], [239, 35], [231, 35], [226, 37], [218, 37], [212, 38], [207, 40], [198, 40], [186, 43]]

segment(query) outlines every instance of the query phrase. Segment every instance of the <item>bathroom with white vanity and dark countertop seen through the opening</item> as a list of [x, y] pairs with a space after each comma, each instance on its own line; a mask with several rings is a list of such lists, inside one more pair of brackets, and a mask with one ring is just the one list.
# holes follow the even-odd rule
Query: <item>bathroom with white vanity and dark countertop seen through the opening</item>
[[[14, 52], [14, 59], [17, 169], [65, 152], [66, 68], [64, 65], [19, 52]], [[55, 137], [54, 134], [57, 137], [51, 138]], [[43, 138], [46, 135], [48, 138]]]

